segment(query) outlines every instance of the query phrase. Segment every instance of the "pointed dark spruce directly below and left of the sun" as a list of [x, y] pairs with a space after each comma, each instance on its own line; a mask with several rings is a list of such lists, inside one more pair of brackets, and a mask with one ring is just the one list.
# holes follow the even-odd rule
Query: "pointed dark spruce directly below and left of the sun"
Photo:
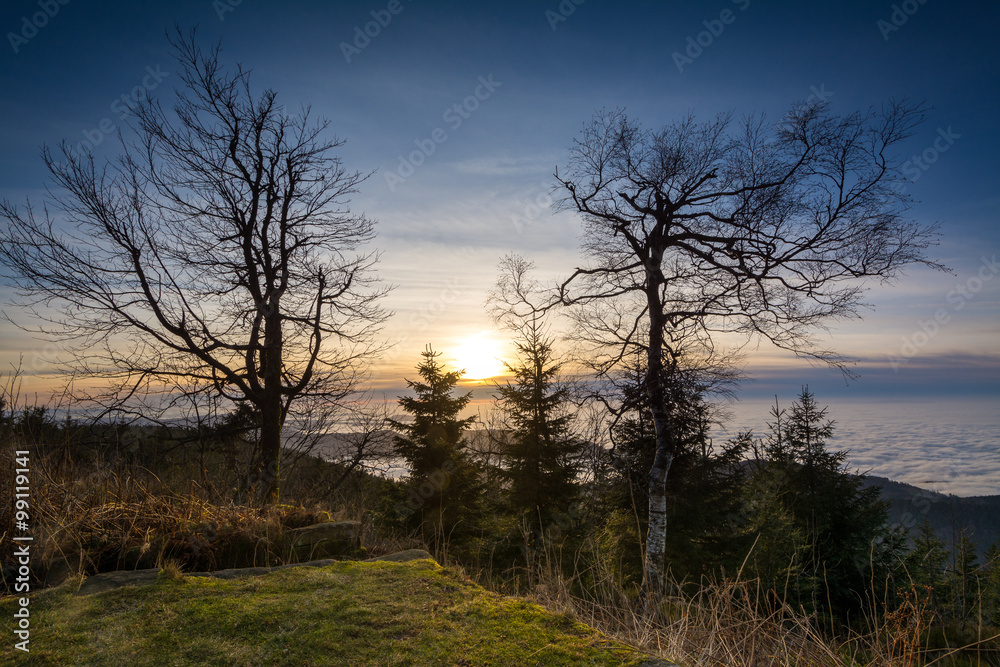
[[401, 434], [395, 438], [396, 453], [410, 468], [406, 514], [428, 541], [460, 541], [474, 530], [480, 505], [479, 475], [464, 438], [476, 418], [458, 416], [472, 392], [452, 395], [463, 372], [446, 371], [438, 361], [441, 353], [429, 345], [421, 355], [421, 380], [406, 381], [416, 395], [399, 398], [413, 420], [391, 422]]

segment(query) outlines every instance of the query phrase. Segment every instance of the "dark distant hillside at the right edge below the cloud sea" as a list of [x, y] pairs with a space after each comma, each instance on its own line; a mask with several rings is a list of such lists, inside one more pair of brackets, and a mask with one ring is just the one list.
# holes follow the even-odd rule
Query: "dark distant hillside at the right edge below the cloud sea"
[[882, 497], [890, 503], [890, 522], [906, 527], [911, 536], [927, 519], [934, 534], [951, 547], [962, 528], [967, 528], [980, 562], [986, 549], [1000, 540], [1000, 496], [960, 498], [884, 477], [866, 477], [865, 487], [869, 486], [882, 488]]

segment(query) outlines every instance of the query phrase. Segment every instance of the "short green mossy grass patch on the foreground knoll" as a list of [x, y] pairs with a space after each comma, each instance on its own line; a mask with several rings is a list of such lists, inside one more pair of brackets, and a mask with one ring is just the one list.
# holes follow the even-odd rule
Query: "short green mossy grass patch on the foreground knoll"
[[[14, 598], [0, 600], [10, 626]], [[235, 580], [161, 579], [32, 596], [32, 665], [638, 665], [572, 619], [489, 593], [432, 561], [343, 562]]]

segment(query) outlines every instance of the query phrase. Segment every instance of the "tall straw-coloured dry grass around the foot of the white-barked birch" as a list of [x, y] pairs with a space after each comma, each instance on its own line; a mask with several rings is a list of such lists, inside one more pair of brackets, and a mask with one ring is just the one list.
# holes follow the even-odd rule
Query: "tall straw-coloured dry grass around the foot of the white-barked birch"
[[[641, 612], [638, 591], [623, 588], [610, 571], [601, 571], [599, 558], [576, 554], [573, 562], [591, 565], [565, 577], [561, 555], [547, 551], [532, 572], [480, 572], [478, 578], [505, 592], [530, 582], [525, 594], [542, 606], [687, 667], [1000, 664], [996, 637], [945, 650], [927, 648], [933, 613], [926, 593], [912, 586], [892, 611], [871, 612], [864, 632], [832, 637], [814, 616], [793, 609], [757, 580], [705, 578], [697, 586], [675, 582], [658, 607]], [[586, 598], [578, 594], [582, 581], [588, 582]]]

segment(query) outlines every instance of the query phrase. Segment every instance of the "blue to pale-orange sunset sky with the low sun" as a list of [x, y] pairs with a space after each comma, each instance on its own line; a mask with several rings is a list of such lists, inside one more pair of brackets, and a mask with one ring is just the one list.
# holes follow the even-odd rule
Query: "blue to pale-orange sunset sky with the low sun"
[[[545, 281], [580, 265], [580, 220], [556, 212], [550, 192], [596, 110], [625, 107], [655, 128], [687, 113], [777, 121], [817, 97], [837, 113], [923, 102], [926, 120], [901, 147], [911, 215], [940, 223], [931, 256], [952, 272], [907, 270], [873, 287], [862, 319], [831, 323], [824, 342], [858, 360], [859, 379], [751, 345], [743, 394], [790, 400], [808, 383], [820, 400], [969, 398], [1000, 412], [1000, 5], [8, 0], [0, 197], [43, 202], [43, 144], [113, 156], [123, 99], [169, 102], [175, 23], [221, 40], [224, 62], [252, 69], [258, 90], [311, 105], [346, 140], [345, 164], [373, 172], [352, 208], [378, 220], [378, 274], [395, 285], [385, 336], [396, 345], [373, 376], [390, 396], [426, 344], [464, 366], [509, 354], [484, 308], [503, 255], [531, 259]], [[4, 313], [23, 323], [9, 296], [0, 286]], [[31, 376], [58, 347], [9, 322], [0, 333], [3, 368], [21, 359], [29, 389], [42, 386]]]

